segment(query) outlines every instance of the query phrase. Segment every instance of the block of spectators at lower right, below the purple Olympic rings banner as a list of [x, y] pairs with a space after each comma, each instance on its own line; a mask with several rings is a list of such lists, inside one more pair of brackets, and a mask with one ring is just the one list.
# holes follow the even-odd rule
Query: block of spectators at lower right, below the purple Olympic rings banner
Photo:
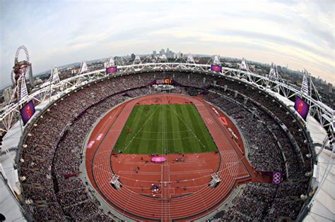
[[[278, 218], [297, 218], [302, 207], [302, 200], [295, 200], [297, 191], [303, 192], [305, 187], [292, 184], [286, 192], [282, 185], [249, 183], [242, 188], [242, 194], [237, 195], [228, 209], [213, 216], [211, 221], [276, 221]], [[298, 187], [295, 187], [298, 186]], [[278, 197], [281, 192], [284, 197]], [[290, 198], [289, 198], [290, 197]]]

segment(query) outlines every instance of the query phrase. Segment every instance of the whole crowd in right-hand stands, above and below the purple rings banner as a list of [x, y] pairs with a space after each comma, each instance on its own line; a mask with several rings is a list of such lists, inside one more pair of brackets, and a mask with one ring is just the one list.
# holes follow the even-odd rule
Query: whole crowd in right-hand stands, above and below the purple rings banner
[[[304, 204], [300, 195], [307, 195], [310, 184], [310, 178], [305, 176], [305, 172], [310, 171], [311, 162], [310, 159], [306, 158], [308, 149], [303, 130], [300, 130], [300, 124], [295, 121], [285, 106], [278, 104], [275, 99], [271, 99], [267, 95], [260, 94], [261, 92], [258, 90], [226, 80], [218, 80], [217, 84], [223, 87], [211, 87], [210, 93], [206, 94], [205, 98], [220, 106], [237, 121], [247, 137], [251, 153], [254, 149], [254, 143], [248, 137], [258, 135], [272, 143], [276, 142], [278, 144], [276, 150], [282, 152], [284, 156], [286, 166], [283, 169], [287, 170], [287, 180], [280, 185], [269, 185], [273, 192], [271, 195], [265, 196], [262, 195], [264, 191], [257, 188], [264, 186], [264, 184], [248, 184], [243, 195], [235, 200], [235, 204], [228, 211], [221, 211], [214, 219], [219, 218], [218, 221], [276, 221], [278, 218], [294, 220]], [[239, 93], [237, 94], [237, 92]], [[241, 92], [247, 99], [240, 95]], [[249, 123], [245, 124], [247, 122], [244, 123], [244, 121]], [[257, 122], [261, 122], [261, 124]], [[285, 125], [288, 129], [285, 130], [281, 125]], [[262, 134], [257, 132], [259, 129]], [[293, 135], [293, 139], [290, 138], [290, 133]], [[259, 140], [257, 144], [264, 144], [264, 142], [266, 144], [265, 140]], [[298, 151], [295, 149], [295, 142], [298, 144]], [[276, 150], [269, 149], [268, 154], [265, 155], [266, 158], [277, 159], [276, 156], [271, 158], [272, 154], [269, 156], [269, 152], [276, 152]], [[253, 157], [253, 155], [249, 156], [253, 166], [257, 168], [258, 163], [254, 161]], [[266, 162], [262, 155], [257, 158]], [[302, 164], [301, 158], [304, 159], [304, 164]], [[254, 195], [250, 195], [250, 190]], [[252, 201], [248, 199], [251, 196]], [[255, 202], [256, 200], [258, 202]], [[266, 204], [264, 205], [264, 203]]]

